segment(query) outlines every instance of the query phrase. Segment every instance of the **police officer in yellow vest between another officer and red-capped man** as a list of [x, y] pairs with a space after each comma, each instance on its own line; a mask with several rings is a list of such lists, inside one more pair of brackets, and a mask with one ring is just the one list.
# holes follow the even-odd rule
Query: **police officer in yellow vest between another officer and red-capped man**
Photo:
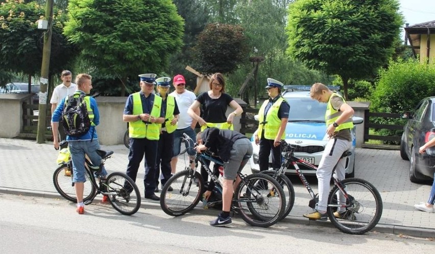
[[[162, 77], [156, 79], [157, 95], [162, 98], [162, 110], [164, 112], [164, 123], [161, 125], [159, 145], [156, 162], [156, 188], [159, 192], [159, 178], [163, 188], [166, 181], [171, 177], [171, 159], [174, 148], [174, 131], [178, 126], [178, 114], [180, 113], [175, 97], [168, 95], [171, 87], [171, 78]], [[161, 175], [160, 175], [161, 168]], [[172, 187], [169, 188], [172, 191]]]

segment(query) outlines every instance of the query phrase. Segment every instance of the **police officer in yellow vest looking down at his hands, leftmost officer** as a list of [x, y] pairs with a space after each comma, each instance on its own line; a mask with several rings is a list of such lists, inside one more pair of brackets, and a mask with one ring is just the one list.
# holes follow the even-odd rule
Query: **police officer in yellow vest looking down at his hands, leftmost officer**
[[162, 98], [153, 94], [155, 74], [142, 74], [139, 77], [140, 91], [128, 97], [123, 115], [123, 121], [130, 123], [127, 175], [136, 181], [137, 170], [145, 154], [145, 198], [160, 200], [154, 194], [154, 189], [160, 124], [164, 123]]

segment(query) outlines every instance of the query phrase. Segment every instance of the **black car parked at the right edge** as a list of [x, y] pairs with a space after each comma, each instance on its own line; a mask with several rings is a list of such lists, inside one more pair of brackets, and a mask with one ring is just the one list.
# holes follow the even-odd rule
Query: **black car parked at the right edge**
[[413, 112], [405, 112], [408, 122], [403, 127], [400, 156], [409, 159], [409, 180], [422, 182], [433, 178], [435, 172], [435, 147], [420, 154], [419, 148], [435, 137], [435, 97], [419, 102]]

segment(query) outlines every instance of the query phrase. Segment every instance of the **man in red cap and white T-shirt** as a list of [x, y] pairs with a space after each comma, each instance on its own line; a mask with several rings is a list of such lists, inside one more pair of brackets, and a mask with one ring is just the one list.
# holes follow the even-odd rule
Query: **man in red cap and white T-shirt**
[[[183, 136], [183, 133], [186, 133], [189, 135], [189, 137], [196, 142], [196, 133], [195, 133], [195, 126], [197, 125], [196, 120], [192, 119], [189, 114], [187, 114], [187, 109], [192, 105], [192, 103], [195, 102], [197, 99], [197, 96], [192, 93], [189, 90], [186, 90], [186, 81], [184, 80], [183, 75], [176, 75], [173, 79], [173, 85], [175, 87], [175, 91], [173, 91], [170, 96], [175, 97], [175, 100], [177, 101], [177, 106], [180, 111], [179, 120], [178, 120], [178, 127], [174, 131], [174, 150], [173, 150], [173, 157], [171, 159], [171, 170], [172, 174], [175, 174], [175, 171], [177, 169], [177, 161], [178, 161], [178, 155], [180, 154], [181, 149], [181, 140], [180, 137]], [[196, 114], [198, 116], [200, 115], [200, 108], [197, 108]], [[187, 144], [185, 143], [186, 147], [190, 146], [191, 149], [187, 150], [187, 154], [189, 154], [190, 158], [194, 158], [195, 156], [195, 149], [193, 149], [193, 143]], [[195, 163], [190, 166], [195, 166]]]

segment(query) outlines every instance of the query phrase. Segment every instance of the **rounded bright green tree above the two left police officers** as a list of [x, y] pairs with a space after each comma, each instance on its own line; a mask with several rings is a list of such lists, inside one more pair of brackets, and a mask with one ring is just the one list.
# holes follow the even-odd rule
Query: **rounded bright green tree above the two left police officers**
[[182, 46], [183, 20], [171, 0], [70, 0], [64, 34], [99, 72], [117, 77], [159, 73]]

